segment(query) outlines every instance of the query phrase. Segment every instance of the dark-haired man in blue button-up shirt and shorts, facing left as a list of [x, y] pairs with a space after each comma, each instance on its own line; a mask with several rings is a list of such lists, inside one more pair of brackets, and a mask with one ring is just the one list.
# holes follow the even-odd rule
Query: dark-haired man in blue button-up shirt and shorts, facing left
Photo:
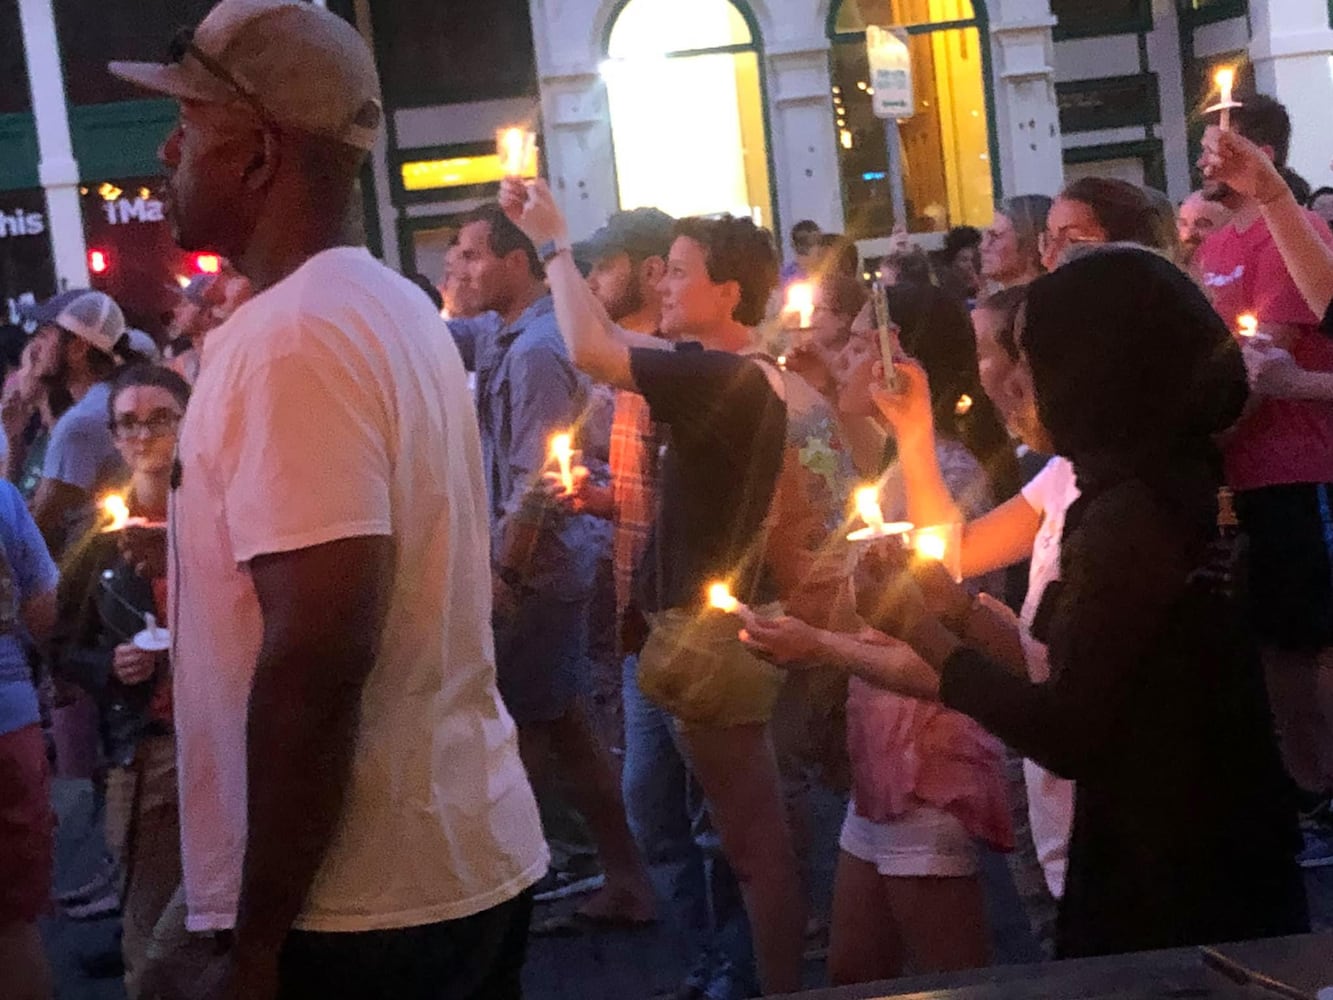
[[548, 501], [540, 488], [552, 469], [552, 436], [577, 440], [589, 381], [569, 361], [536, 248], [499, 208], [464, 224], [456, 263], [460, 304], [479, 313], [449, 327], [477, 376], [500, 693], [519, 725], [529, 780], [541, 787], [553, 755], [597, 840], [607, 885], [580, 912], [641, 924], [653, 919], [652, 884], [583, 697], [589, 603], [609, 532], [596, 517]]

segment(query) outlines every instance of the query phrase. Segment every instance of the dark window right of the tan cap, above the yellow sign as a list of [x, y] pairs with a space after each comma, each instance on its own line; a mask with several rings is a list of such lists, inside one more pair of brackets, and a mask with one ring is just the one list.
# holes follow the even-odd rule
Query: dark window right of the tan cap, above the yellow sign
[[536, 95], [528, 0], [392, 0], [371, 7], [389, 107]]

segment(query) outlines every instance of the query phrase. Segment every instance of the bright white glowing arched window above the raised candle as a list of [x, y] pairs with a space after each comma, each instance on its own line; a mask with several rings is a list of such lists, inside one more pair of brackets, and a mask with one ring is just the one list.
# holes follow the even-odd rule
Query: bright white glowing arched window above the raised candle
[[757, 39], [729, 0], [629, 0], [603, 75], [620, 207], [773, 224]]

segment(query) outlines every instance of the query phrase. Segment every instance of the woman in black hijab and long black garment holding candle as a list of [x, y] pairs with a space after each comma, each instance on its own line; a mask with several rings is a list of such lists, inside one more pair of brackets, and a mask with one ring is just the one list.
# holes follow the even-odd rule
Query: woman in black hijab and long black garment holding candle
[[[1213, 436], [1245, 405], [1240, 349], [1184, 273], [1125, 248], [1036, 281], [1020, 343], [1034, 400], [1024, 421], [1082, 491], [1062, 583], [1037, 615], [1050, 679], [964, 645], [966, 623], [946, 628], [901, 577], [892, 596], [858, 593], [901, 639], [842, 640], [829, 659], [938, 699], [1077, 780], [1061, 956], [1297, 933], [1294, 808], [1257, 651], [1214, 572], [1232, 553]], [[774, 657], [805, 655], [800, 629], [756, 625], [752, 641]]]

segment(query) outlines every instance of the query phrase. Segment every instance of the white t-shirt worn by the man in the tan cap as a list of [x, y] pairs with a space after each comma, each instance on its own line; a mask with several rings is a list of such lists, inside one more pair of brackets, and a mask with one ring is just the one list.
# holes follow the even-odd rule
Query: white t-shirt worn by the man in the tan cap
[[191, 931], [231, 928], [240, 892], [263, 629], [247, 563], [337, 539], [392, 536], [392, 593], [343, 817], [296, 927], [453, 920], [547, 868], [495, 684], [477, 424], [439, 324], [419, 288], [337, 248], [208, 335], [169, 563]]

